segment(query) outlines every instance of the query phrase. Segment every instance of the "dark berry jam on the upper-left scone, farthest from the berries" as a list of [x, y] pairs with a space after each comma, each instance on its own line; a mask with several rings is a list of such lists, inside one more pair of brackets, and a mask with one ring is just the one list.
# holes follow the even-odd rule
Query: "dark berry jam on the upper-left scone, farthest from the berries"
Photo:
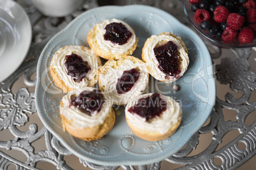
[[76, 54], [66, 55], [64, 65], [68, 70], [68, 75], [71, 75], [75, 82], [82, 81], [90, 70], [90, 66]]

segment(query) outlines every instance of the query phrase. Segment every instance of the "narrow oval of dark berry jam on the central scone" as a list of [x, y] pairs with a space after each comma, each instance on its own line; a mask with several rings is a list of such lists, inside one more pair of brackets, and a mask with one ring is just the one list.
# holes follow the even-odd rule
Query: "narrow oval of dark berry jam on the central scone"
[[120, 78], [117, 79], [117, 93], [124, 94], [132, 89], [132, 86], [139, 79], [140, 73], [136, 69], [125, 70]]

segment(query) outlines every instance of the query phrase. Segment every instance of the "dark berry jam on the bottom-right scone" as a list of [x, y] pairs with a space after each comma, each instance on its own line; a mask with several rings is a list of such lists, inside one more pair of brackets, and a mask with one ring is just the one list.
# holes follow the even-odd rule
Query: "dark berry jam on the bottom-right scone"
[[146, 98], [140, 98], [128, 111], [132, 114], [138, 114], [140, 117], [145, 118], [146, 121], [150, 121], [154, 117], [159, 117], [166, 108], [166, 101], [160, 98], [159, 93], [153, 93], [153, 95]]

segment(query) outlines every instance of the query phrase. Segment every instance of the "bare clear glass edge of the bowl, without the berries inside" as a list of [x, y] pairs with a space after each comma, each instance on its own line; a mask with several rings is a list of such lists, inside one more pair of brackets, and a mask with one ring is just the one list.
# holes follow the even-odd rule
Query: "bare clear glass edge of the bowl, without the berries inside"
[[232, 41], [232, 42], [227, 42], [224, 41], [218, 37], [212, 36], [210, 34], [208, 34], [208, 31], [206, 30], [202, 30], [200, 28], [200, 24], [196, 22], [195, 18], [194, 18], [194, 14], [195, 12], [193, 12], [191, 10], [191, 3], [188, 0], [183, 0], [183, 9], [185, 11], [185, 15], [188, 18], [188, 21], [191, 23], [191, 25], [200, 33], [202, 34], [204, 37], [206, 37], [207, 39], [209, 39], [211, 42], [213, 42], [213, 44], [223, 47], [223, 48], [249, 48], [249, 47], [253, 47], [256, 46], [256, 38], [253, 40], [252, 43], [248, 44], [240, 44], [238, 40], [236, 41]]

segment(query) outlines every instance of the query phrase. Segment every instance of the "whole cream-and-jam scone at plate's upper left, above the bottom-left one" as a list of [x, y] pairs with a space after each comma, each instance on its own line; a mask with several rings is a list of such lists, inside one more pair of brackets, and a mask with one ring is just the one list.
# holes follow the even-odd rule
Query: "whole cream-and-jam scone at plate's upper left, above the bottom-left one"
[[55, 84], [68, 93], [73, 89], [94, 86], [101, 66], [101, 59], [91, 49], [64, 46], [53, 55], [50, 73]]

